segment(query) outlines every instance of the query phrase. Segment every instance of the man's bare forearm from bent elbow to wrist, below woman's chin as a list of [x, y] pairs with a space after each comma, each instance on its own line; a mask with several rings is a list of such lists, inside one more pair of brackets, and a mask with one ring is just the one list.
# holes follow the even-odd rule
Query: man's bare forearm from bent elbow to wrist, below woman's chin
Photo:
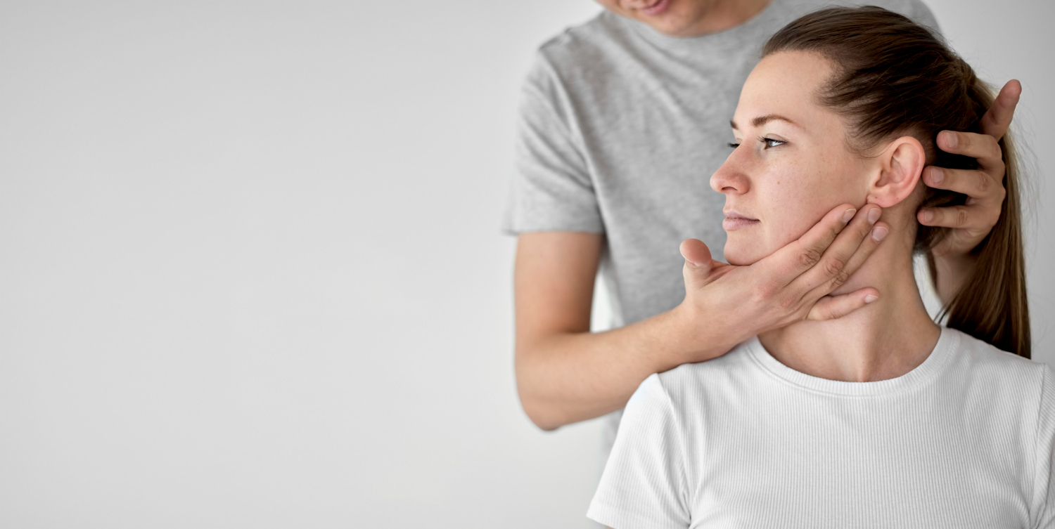
[[543, 430], [598, 417], [626, 406], [650, 374], [730, 349], [720, 339], [710, 351], [696, 346], [698, 331], [690, 332], [687, 321], [677, 308], [618, 329], [555, 334], [518, 348], [524, 411]]

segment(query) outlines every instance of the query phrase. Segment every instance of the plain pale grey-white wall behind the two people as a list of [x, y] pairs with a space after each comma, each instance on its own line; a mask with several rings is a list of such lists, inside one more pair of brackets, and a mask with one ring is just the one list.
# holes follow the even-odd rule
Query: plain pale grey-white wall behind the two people
[[[1024, 85], [1055, 363], [1055, 8], [928, 3]], [[0, 527], [590, 527], [499, 221], [532, 54], [598, 8], [0, 3]]]

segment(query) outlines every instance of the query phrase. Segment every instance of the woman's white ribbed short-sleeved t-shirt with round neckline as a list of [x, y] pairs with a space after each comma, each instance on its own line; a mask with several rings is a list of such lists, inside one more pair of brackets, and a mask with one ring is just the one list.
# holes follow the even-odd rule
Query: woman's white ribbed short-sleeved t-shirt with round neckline
[[649, 376], [587, 515], [615, 529], [1050, 528], [1055, 370], [953, 329], [897, 378], [828, 380], [757, 338]]

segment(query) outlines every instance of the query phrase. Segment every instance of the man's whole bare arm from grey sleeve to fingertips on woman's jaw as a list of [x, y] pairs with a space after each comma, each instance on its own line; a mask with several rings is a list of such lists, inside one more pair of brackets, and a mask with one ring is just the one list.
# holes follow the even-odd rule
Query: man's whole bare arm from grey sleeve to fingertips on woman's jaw
[[652, 373], [721, 356], [770, 328], [836, 318], [863, 307], [879, 295], [876, 289], [827, 294], [887, 233], [878, 218], [875, 204], [861, 212], [843, 204], [799, 240], [749, 267], [714, 261], [703, 242], [687, 239], [685, 300], [597, 333], [590, 332], [590, 310], [603, 235], [520, 234], [515, 366], [524, 412], [543, 430], [594, 418], [626, 406]]

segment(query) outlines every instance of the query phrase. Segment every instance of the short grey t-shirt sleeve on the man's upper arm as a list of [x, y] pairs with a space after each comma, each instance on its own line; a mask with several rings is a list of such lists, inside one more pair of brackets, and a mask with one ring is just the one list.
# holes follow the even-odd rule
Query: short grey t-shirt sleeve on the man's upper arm
[[515, 171], [501, 231], [603, 233], [581, 140], [567, 93], [539, 53], [520, 92]]

